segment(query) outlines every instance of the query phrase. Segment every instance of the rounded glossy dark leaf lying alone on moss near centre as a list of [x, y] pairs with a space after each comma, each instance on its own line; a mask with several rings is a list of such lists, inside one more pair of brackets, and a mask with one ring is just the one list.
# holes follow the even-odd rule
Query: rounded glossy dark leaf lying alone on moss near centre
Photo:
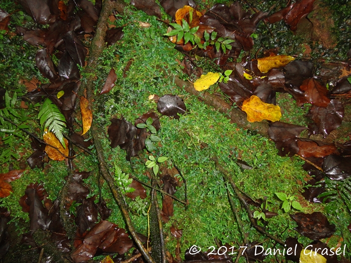
[[179, 120], [179, 114], [187, 111], [184, 100], [177, 95], [166, 94], [159, 98], [157, 102], [157, 110], [162, 115], [167, 115]]

